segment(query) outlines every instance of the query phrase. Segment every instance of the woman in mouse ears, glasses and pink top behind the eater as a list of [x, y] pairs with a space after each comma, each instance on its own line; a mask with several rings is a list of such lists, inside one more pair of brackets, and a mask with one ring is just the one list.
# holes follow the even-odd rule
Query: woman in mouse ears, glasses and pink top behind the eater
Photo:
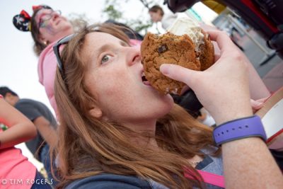
[[[86, 21], [81, 21], [85, 26]], [[57, 60], [54, 56], [52, 46], [54, 42], [64, 36], [74, 33], [74, 26], [64, 16], [61, 11], [53, 10], [50, 6], [33, 6], [33, 15], [29, 16], [26, 11], [14, 16], [13, 24], [21, 31], [30, 31], [35, 42], [33, 50], [38, 60], [38, 77], [40, 84], [45, 87], [45, 92], [50, 100], [50, 104], [57, 113], [57, 105], [54, 99], [54, 78], [56, 72]], [[82, 26], [79, 26], [82, 27]], [[131, 40], [131, 45], [140, 45], [140, 40]]]

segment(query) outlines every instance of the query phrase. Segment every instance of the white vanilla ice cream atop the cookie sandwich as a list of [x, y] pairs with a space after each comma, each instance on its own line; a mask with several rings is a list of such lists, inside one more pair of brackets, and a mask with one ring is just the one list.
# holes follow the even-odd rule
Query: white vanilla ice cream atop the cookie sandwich
[[199, 52], [200, 45], [204, 43], [204, 35], [200, 25], [189, 17], [177, 18], [175, 22], [167, 28], [167, 31], [175, 35], [187, 34], [195, 43], [195, 51]]

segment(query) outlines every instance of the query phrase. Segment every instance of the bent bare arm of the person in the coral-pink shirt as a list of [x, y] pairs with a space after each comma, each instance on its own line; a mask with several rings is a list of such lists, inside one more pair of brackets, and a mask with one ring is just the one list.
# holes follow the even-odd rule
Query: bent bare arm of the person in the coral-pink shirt
[[8, 130], [0, 132], [0, 149], [13, 147], [21, 142], [33, 139], [37, 132], [33, 122], [25, 118], [16, 108], [0, 97], [0, 122], [8, 126]]

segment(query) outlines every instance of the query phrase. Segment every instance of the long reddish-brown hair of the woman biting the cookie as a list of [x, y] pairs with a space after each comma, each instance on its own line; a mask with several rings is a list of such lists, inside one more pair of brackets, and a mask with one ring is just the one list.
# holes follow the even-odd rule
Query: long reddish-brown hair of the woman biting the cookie
[[[64, 70], [57, 69], [54, 86], [60, 122], [57, 154], [62, 182], [59, 188], [100, 173], [150, 178], [169, 188], [192, 188], [193, 185], [202, 188], [202, 178], [187, 159], [202, 156], [200, 149], [213, 145], [212, 130], [180, 106], [174, 105], [157, 122], [159, 151], [129, 142], [129, 134], [137, 133], [125, 125], [91, 116], [90, 104], [96, 99], [84, 83], [87, 65], [81, 50], [86, 34], [92, 32], [110, 33], [128, 42], [119, 26], [107, 23], [85, 28], [62, 50]], [[192, 179], [185, 178], [185, 168]]]

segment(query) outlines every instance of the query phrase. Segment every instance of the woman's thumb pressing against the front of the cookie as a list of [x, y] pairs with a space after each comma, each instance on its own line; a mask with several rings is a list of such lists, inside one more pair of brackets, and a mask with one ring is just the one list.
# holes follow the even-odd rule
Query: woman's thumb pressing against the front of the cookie
[[165, 76], [177, 81], [182, 81], [188, 86], [192, 84], [192, 80], [194, 80], [193, 78], [196, 72], [192, 69], [187, 69], [176, 64], [161, 64], [160, 71]]

